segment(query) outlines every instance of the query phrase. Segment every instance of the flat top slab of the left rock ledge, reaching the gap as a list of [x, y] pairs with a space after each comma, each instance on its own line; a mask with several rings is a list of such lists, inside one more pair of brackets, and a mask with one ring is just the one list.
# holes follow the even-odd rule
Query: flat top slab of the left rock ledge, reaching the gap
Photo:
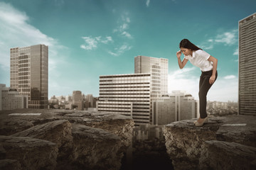
[[[24, 113], [26, 115], [10, 115], [11, 113]], [[28, 115], [31, 113], [31, 115]], [[41, 115], [33, 115], [41, 113]], [[0, 135], [13, 135], [33, 125], [41, 125], [54, 120], [68, 120], [70, 123], [87, 125], [92, 128], [100, 128], [118, 135], [122, 139], [122, 145], [128, 147], [132, 144], [132, 129], [134, 121], [124, 115], [102, 113], [97, 111], [70, 111], [54, 109], [15, 109], [12, 111], [0, 111]], [[16, 129], [10, 125], [6, 132], [6, 124], [20, 123]], [[26, 123], [29, 124], [26, 125]], [[3, 129], [3, 130], [1, 130]]]

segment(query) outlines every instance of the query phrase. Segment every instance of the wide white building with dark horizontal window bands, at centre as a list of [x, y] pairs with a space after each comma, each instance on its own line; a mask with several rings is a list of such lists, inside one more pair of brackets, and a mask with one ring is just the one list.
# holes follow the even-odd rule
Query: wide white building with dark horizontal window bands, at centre
[[131, 116], [135, 125], [150, 123], [151, 75], [100, 76], [97, 110]]

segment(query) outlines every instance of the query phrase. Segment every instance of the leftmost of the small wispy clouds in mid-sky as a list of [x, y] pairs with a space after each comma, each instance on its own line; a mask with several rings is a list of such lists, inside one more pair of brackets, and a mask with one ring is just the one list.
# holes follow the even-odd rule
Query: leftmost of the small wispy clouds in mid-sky
[[89, 37], [82, 37], [83, 40], [85, 40], [85, 44], [80, 45], [82, 49], [85, 50], [94, 50], [97, 48], [98, 43], [103, 43], [107, 44], [108, 42], [113, 42], [112, 37], [107, 36], [105, 39], [102, 39], [101, 36], [92, 38], [91, 36]]

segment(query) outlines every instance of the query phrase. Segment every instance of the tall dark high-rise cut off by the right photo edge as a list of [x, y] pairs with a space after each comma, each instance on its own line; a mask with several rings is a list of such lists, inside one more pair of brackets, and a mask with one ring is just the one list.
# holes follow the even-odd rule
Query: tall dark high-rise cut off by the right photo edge
[[256, 115], [256, 13], [239, 25], [238, 114]]

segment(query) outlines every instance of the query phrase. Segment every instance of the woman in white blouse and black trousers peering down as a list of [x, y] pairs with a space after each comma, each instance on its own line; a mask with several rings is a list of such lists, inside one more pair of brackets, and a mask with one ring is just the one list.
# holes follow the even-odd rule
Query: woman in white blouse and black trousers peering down
[[[196, 45], [193, 45], [193, 43], [187, 39], [181, 40], [179, 48], [181, 50], [176, 52], [176, 56], [178, 58], [178, 66], [180, 67], [180, 69], [183, 69], [183, 67], [189, 60], [191, 64], [199, 67], [202, 72], [199, 81], [198, 93], [200, 118], [198, 118], [198, 120], [196, 120], [194, 123], [196, 126], [203, 126], [204, 123], [208, 122], [208, 115], [206, 113], [206, 96], [210, 87], [213, 85], [218, 77], [218, 60], [215, 57], [209, 55], [207, 52], [203, 51], [201, 48], [197, 47]], [[181, 52], [184, 55], [182, 62]]]

